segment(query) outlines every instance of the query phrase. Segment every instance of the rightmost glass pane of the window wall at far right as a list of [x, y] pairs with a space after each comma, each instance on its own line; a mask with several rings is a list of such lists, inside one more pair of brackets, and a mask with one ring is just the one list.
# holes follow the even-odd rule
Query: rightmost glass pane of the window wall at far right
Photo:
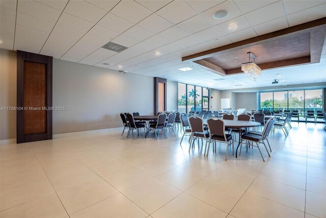
[[322, 90], [307, 90], [305, 91], [305, 112], [307, 110], [322, 110]]

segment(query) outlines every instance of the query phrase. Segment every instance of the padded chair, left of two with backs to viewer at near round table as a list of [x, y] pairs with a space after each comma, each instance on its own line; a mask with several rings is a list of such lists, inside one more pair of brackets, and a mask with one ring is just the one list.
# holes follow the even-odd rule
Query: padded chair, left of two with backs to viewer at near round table
[[207, 139], [209, 137], [209, 132], [204, 130], [204, 123], [203, 119], [200, 116], [191, 116], [189, 117], [189, 124], [192, 130], [192, 135], [190, 139], [190, 145], [189, 145], [189, 152], [191, 147], [194, 147], [195, 140], [198, 141], [198, 147], [199, 147], [199, 139], [202, 140], [202, 147], [203, 147], [203, 138], [206, 138], [206, 145], [207, 146]]

